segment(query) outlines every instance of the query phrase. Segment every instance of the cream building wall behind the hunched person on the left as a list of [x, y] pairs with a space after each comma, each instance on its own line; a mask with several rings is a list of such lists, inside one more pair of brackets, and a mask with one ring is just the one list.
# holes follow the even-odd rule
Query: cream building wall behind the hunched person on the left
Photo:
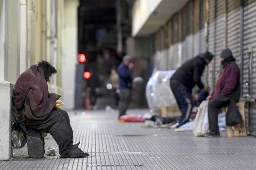
[[6, 57], [1, 58], [4, 61], [1, 81], [14, 84], [23, 71], [46, 60], [58, 71], [49, 83], [49, 91], [61, 93], [63, 3], [63, 0], [6, 1], [3, 25], [6, 40], [5, 46], [1, 46]]

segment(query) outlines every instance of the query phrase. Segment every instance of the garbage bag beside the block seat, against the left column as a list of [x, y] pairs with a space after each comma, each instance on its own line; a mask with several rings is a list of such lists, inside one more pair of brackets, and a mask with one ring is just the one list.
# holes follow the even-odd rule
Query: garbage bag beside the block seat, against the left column
[[22, 148], [27, 143], [26, 134], [16, 124], [12, 125], [11, 140], [15, 149]]

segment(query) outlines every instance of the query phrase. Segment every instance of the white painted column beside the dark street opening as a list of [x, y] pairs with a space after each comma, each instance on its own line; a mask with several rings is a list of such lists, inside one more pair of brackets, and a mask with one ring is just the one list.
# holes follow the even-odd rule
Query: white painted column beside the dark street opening
[[64, 109], [73, 109], [75, 105], [78, 5], [78, 0], [64, 0], [63, 55], [61, 65], [61, 100], [64, 102]]

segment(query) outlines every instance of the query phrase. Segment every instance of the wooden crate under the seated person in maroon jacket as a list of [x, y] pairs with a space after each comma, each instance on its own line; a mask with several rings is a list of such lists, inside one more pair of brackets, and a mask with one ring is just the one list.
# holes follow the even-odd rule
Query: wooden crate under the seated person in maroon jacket
[[[235, 125], [235, 126], [227, 126], [227, 136], [232, 137], [232, 136], [247, 136], [246, 133], [246, 124], [245, 124], [245, 113], [244, 113], [244, 102], [238, 102], [236, 105], [239, 108], [239, 111], [242, 116], [242, 123]], [[228, 107], [227, 107], [228, 108]], [[227, 108], [226, 108], [226, 113], [227, 113]]]

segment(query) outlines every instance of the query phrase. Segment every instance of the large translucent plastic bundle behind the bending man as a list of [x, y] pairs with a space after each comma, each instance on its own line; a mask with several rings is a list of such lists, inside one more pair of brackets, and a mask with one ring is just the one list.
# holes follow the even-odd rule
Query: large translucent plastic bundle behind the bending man
[[177, 106], [170, 87], [170, 78], [175, 70], [154, 71], [146, 85], [148, 108], [154, 111], [164, 106]]

